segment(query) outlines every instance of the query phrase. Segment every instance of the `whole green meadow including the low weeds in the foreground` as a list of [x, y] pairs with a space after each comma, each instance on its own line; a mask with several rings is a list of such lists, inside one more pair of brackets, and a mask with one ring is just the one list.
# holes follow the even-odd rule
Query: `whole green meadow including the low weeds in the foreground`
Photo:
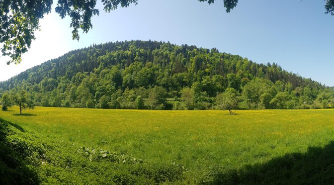
[[[22, 130], [22, 134], [31, 134], [22, 137], [27, 142], [42, 144], [43, 152], [35, 155], [39, 162], [33, 165], [42, 184], [333, 181], [333, 175], [327, 172], [334, 164], [333, 157], [328, 156], [334, 148], [334, 110], [235, 113], [36, 107], [19, 115], [18, 108], [11, 107], [0, 111], [0, 122], [13, 127], [10, 129], [16, 135]], [[131, 165], [126, 160], [104, 160], [92, 150], [142, 162]], [[68, 159], [72, 165], [67, 164]], [[313, 164], [314, 161], [318, 162]], [[82, 172], [83, 164], [103, 167], [95, 168], [102, 172]], [[109, 169], [110, 173], [118, 173], [118, 179], [133, 177], [133, 181], [117, 181], [116, 176], [99, 180], [101, 175], [109, 177]]]

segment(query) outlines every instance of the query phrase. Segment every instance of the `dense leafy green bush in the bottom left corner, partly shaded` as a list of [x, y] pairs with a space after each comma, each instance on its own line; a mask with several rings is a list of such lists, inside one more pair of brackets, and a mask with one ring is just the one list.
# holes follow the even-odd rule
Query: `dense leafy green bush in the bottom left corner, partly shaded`
[[0, 120], [0, 184], [39, 184], [36, 171], [44, 154], [36, 138]]

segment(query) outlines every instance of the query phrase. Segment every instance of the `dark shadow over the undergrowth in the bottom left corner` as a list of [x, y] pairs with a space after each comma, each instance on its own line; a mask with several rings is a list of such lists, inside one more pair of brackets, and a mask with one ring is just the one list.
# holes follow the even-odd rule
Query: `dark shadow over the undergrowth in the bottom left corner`
[[[27, 156], [23, 150], [28, 145], [19, 136], [15, 136], [20, 134], [20, 131], [13, 131], [14, 128], [10, 128], [10, 125], [17, 126], [17, 124], [0, 120], [0, 184], [39, 184], [37, 173], [26, 160]], [[11, 136], [10, 139], [9, 136]]]

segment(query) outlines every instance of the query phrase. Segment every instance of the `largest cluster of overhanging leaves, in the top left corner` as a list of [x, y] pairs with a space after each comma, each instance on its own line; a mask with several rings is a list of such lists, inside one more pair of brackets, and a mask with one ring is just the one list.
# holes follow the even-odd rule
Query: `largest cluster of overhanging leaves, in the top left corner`
[[[21, 62], [21, 55], [35, 39], [39, 19], [51, 12], [52, 0], [1, 0], [0, 1], [0, 43], [2, 55], [9, 56], [15, 63]], [[10, 63], [10, 61], [9, 61]]]

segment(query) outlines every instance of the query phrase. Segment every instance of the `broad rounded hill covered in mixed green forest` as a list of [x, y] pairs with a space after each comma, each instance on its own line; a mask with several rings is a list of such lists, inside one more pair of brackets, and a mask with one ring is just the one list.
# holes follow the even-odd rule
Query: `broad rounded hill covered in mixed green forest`
[[1, 82], [0, 89], [24, 89], [36, 105], [88, 108], [213, 109], [217, 94], [227, 92], [238, 108], [327, 108], [334, 102], [329, 88], [275, 63], [156, 41], [74, 50]]

